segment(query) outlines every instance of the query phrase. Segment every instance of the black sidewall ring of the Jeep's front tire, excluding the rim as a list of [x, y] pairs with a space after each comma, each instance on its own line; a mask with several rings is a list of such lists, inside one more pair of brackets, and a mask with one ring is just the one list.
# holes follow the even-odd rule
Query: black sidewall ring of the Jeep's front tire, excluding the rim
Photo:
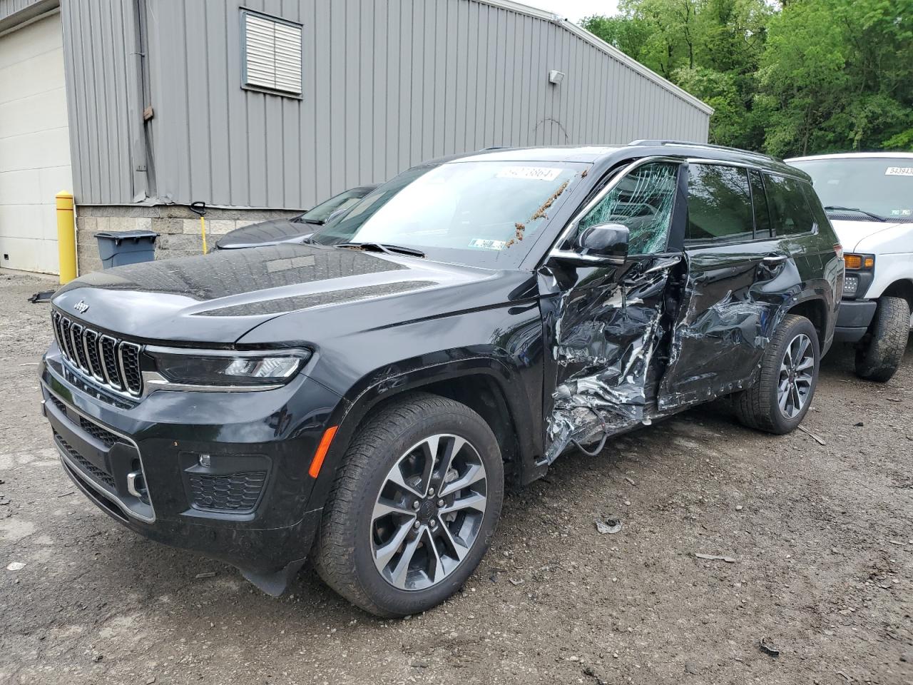
[[[387, 583], [374, 565], [371, 548], [371, 515], [383, 480], [394, 463], [408, 448], [425, 437], [447, 433], [467, 439], [477, 449], [485, 464], [487, 502], [476, 543], [462, 564], [444, 581], [425, 590], [400, 590]], [[364, 482], [359, 483], [363, 495], [352, 511], [352, 561], [359, 585], [373, 603], [383, 612], [394, 616], [420, 613], [443, 602], [453, 595], [475, 571], [488, 551], [488, 545], [498, 525], [504, 498], [504, 467], [498, 441], [485, 421], [468, 411], [442, 412], [427, 416], [416, 425], [405, 427], [390, 443], [385, 443], [380, 453], [373, 455], [373, 466], [366, 471]]]

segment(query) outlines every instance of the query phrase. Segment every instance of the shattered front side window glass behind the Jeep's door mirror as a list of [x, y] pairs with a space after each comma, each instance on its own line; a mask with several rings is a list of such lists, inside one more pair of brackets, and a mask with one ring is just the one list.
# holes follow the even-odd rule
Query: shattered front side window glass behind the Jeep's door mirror
[[621, 224], [631, 234], [628, 254], [664, 251], [676, 196], [677, 174], [675, 163], [652, 162], [638, 166], [583, 216], [577, 226], [578, 234], [599, 224]]

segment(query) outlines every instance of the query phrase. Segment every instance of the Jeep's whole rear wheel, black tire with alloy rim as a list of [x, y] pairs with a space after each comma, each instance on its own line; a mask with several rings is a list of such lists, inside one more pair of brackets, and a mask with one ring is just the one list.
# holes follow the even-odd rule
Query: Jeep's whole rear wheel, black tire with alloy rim
[[[803, 354], [811, 353], [811, 367], [803, 368], [798, 373], [783, 374], [783, 364], [789, 366], [787, 353], [790, 353], [790, 357], [796, 357], [796, 351], [801, 349], [805, 339], [811, 349], [805, 348]], [[800, 357], [794, 364], [803, 364], [803, 359], [804, 356]], [[777, 435], [795, 430], [812, 405], [814, 388], [818, 384], [819, 364], [821, 350], [812, 321], [803, 316], [787, 314], [761, 356], [761, 375], [758, 382], [734, 396], [733, 405], [740, 423]], [[796, 386], [805, 394], [801, 395], [800, 402], [793, 401], [791, 398], [794, 395], [790, 395], [787, 397], [786, 407], [783, 408], [780, 401], [781, 389], [784, 385], [789, 388], [790, 379], [793, 377], [796, 379]]]

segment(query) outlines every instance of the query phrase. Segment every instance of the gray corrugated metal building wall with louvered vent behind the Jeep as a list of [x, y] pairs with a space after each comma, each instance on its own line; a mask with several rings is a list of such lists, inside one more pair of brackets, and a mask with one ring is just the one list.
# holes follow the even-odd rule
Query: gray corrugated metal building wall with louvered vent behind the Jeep
[[61, 18], [80, 271], [100, 229], [198, 252], [197, 200], [221, 233], [491, 145], [707, 140], [707, 105], [505, 0], [63, 0]]

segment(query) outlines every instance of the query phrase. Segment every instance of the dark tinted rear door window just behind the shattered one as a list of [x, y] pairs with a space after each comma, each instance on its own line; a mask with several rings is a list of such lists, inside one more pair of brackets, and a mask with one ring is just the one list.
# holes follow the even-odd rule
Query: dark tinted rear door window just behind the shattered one
[[754, 235], [754, 218], [748, 171], [736, 166], [691, 164], [687, 213], [687, 242], [750, 240]]

